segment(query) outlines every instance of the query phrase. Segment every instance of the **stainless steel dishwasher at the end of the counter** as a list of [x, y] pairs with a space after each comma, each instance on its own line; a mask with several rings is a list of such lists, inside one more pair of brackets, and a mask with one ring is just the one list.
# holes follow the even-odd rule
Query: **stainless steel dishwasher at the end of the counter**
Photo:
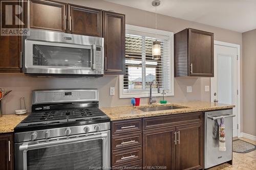
[[[204, 168], [232, 160], [232, 109], [205, 112], [204, 119]], [[219, 151], [219, 125], [224, 118], [226, 151]]]

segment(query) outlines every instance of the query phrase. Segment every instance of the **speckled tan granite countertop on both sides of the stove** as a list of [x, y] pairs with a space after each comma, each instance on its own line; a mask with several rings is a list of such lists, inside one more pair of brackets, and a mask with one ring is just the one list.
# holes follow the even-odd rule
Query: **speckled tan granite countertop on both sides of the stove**
[[[110, 117], [111, 120], [123, 120], [130, 118], [139, 118], [139, 117], [151, 117], [151, 116], [160, 116], [160, 115], [169, 115], [169, 114], [181, 114], [188, 112], [196, 111], [209, 111], [209, 110], [219, 110], [219, 109], [231, 109], [235, 106], [226, 105], [220, 103], [210, 103], [210, 102], [177, 102], [177, 103], [168, 103], [168, 104], [156, 104], [156, 106], [180, 106], [184, 107], [181, 109], [174, 110], [159, 110], [151, 112], [143, 112], [138, 110], [140, 107], [148, 107], [148, 105], [141, 105], [139, 107], [132, 106], [119, 106], [119, 107], [103, 107], [100, 108], [106, 115]], [[13, 132], [14, 128], [25, 119], [28, 114], [25, 115], [16, 115], [16, 114], [4, 114], [3, 117], [0, 117], [0, 133], [9, 133]]]

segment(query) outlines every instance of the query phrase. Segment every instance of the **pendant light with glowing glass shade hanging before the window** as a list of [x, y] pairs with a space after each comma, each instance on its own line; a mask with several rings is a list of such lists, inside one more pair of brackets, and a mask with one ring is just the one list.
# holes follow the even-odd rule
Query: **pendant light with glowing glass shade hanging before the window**
[[156, 7], [156, 40], [153, 42], [152, 46], [152, 56], [153, 60], [159, 60], [161, 58], [161, 46], [160, 41], [157, 41], [157, 6], [160, 5], [159, 0], [155, 0], [152, 2], [152, 5]]

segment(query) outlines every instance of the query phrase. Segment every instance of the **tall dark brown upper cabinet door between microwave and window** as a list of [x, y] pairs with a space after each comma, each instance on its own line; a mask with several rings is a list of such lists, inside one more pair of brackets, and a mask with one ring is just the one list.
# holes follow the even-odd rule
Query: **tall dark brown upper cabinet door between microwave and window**
[[125, 16], [103, 11], [105, 74], [125, 74]]

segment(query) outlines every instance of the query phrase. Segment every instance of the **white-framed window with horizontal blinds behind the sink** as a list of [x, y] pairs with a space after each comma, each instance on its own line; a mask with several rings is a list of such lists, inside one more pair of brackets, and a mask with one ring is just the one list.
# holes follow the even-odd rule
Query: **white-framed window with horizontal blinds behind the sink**
[[[126, 25], [125, 32], [126, 74], [119, 77], [120, 98], [148, 96], [150, 83], [156, 80], [166, 95], [174, 95], [174, 61], [172, 32]], [[161, 45], [161, 59], [152, 59], [152, 45], [157, 40]], [[153, 84], [152, 92], [157, 93]]]

